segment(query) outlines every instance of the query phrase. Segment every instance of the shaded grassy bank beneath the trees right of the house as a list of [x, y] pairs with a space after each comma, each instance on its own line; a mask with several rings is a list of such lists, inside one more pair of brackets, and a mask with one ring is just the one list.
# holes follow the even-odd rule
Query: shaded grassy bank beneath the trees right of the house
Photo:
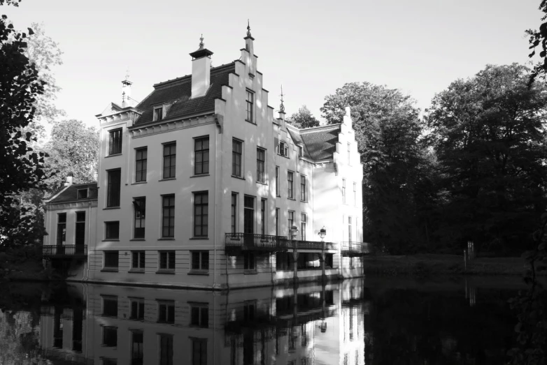
[[371, 256], [364, 258], [365, 274], [412, 275], [523, 275], [527, 267], [522, 258], [476, 258], [464, 266], [460, 255]]

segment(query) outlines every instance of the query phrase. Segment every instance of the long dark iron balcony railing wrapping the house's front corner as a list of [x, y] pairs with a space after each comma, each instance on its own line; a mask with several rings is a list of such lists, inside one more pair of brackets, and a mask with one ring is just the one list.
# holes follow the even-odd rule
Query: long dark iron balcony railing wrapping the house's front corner
[[334, 250], [335, 244], [321, 241], [290, 240], [283, 236], [271, 236], [255, 233], [227, 233], [225, 246], [227, 251], [287, 251], [297, 248], [299, 250], [322, 250], [325, 244], [326, 250]]

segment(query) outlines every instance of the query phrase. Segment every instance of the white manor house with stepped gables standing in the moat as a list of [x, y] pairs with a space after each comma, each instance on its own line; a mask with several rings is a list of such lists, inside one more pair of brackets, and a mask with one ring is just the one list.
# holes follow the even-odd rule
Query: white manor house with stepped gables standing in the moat
[[341, 124], [274, 117], [248, 29], [241, 57], [141, 103], [97, 115], [97, 183], [46, 201], [44, 258], [69, 280], [229, 289], [362, 275], [362, 164], [349, 108]]

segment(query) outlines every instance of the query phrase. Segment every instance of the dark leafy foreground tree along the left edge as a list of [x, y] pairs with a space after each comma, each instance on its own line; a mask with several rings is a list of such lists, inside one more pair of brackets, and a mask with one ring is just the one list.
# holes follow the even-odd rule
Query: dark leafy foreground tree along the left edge
[[[0, 5], [18, 5], [1, 1]], [[29, 36], [33, 31], [29, 29]], [[45, 154], [29, 144], [36, 141], [22, 129], [34, 121], [36, 97], [43, 94], [38, 70], [24, 52], [27, 34], [16, 32], [6, 15], [0, 20], [0, 246], [27, 242], [33, 221], [17, 194], [43, 188]]]

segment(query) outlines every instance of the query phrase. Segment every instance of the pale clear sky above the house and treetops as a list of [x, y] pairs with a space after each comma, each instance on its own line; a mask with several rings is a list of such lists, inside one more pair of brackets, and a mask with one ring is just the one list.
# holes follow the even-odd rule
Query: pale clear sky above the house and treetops
[[320, 118], [325, 96], [364, 81], [400, 89], [423, 110], [486, 64], [527, 63], [524, 31], [541, 24], [539, 2], [23, 0], [0, 13], [16, 29], [43, 22], [64, 52], [57, 107], [99, 126], [94, 116], [120, 103], [128, 68], [132, 98], [143, 100], [153, 84], [191, 73], [201, 33], [213, 66], [238, 59], [248, 19], [276, 110], [281, 84], [287, 115], [306, 105]]

